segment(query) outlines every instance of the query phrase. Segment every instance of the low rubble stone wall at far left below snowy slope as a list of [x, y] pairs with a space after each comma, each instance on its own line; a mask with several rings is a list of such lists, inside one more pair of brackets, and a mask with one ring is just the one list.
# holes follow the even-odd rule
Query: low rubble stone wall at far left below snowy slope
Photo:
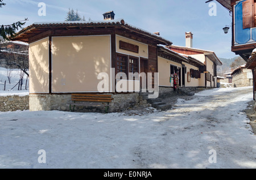
[[0, 112], [29, 109], [29, 96], [0, 96]]

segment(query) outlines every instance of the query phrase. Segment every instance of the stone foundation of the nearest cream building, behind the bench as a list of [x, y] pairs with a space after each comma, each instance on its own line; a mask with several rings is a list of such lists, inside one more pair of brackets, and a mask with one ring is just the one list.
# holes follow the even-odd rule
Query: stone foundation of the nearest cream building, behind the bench
[[[147, 104], [139, 93], [113, 94], [112, 102], [109, 103], [109, 112], [121, 112], [134, 106]], [[30, 110], [62, 110], [75, 112], [106, 112], [107, 102], [81, 102], [83, 105], [71, 105], [71, 95], [49, 95], [49, 94], [31, 94]], [[71, 105], [71, 106], [70, 106]], [[97, 105], [97, 106], [95, 106]]]

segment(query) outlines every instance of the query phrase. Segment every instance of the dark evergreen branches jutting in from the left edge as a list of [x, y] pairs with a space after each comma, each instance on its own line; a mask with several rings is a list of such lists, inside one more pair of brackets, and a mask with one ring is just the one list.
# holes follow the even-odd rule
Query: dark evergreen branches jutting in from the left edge
[[[3, 3], [3, 0], [0, 0], [0, 7], [5, 6], [6, 4]], [[22, 25], [26, 23], [28, 19], [25, 18], [24, 20], [20, 20], [19, 22], [13, 23], [13, 24], [8, 24], [8, 25], [1, 25], [0, 27], [0, 36], [4, 40], [10, 40], [9, 37], [14, 37], [15, 32], [19, 29], [22, 28]]]

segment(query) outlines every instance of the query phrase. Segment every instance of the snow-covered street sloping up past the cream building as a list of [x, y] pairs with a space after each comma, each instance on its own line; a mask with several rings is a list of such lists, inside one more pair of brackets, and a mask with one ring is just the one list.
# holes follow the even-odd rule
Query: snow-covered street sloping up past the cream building
[[165, 112], [0, 113], [0, 168], [256, 168], [252, 99], [216, 88]]

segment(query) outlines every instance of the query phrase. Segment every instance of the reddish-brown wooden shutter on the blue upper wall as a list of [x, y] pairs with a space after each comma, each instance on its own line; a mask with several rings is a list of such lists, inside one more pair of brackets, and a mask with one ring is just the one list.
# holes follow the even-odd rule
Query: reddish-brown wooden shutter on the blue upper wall
[[254, 26], [254, 0], [246, 0], [243, 2], [243, 29], [251, 28]]

